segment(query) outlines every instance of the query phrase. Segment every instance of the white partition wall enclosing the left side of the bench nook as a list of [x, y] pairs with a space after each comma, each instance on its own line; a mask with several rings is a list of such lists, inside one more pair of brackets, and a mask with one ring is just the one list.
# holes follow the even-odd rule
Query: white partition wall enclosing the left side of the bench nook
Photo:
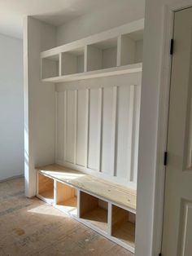
[[25, 194], [36, 194], [36, 166], [55, 161], [55, 85], [41, 82], [40, 53], [55, 46], [55, 27], [24, 20]]

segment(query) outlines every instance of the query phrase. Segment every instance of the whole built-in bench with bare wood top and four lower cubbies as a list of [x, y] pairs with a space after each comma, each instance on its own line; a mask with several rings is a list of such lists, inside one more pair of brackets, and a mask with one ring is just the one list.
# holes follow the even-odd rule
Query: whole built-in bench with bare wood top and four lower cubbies
[[134, 190], [55, 164], [36, 169], [39, 198], [134, 252]]

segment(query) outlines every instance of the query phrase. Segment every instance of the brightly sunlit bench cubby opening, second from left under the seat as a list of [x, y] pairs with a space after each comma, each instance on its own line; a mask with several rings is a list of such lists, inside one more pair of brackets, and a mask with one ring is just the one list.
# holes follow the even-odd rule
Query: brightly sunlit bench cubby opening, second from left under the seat
[[77, 190], [65, 183], [56, 182], [56, 206], [68, 214], [77, 216]]

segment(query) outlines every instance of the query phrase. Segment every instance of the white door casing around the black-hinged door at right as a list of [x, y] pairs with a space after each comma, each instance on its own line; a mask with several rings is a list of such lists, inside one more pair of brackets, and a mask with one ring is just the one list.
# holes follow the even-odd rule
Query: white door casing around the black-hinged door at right
[[152, 255], [161, 251], [164, 225], [164, 192], [165, 192], [165, 166], [164, 152], [167, 150], [168, 137], [168, 108], [169, 90], [172, 67], [170, 43], [173, 35], [174, 12], [192, 7], [192, 0], [181, 0], [173, 4], [164, 5], [164, 39], [163, 55], [161, 60], [160, 89], [159, 89], [159, 118], [158, 118], [158, 143], [155, 174], [155, 201], [153, 218]]

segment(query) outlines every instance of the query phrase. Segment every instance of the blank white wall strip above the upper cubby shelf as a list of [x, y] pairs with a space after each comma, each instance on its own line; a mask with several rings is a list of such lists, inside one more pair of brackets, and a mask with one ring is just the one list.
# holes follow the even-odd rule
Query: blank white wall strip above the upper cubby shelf
[[144, 18], [145, 0], [120, 0], [57, 28], [57, 45], [89, 37], [92, 34]]

